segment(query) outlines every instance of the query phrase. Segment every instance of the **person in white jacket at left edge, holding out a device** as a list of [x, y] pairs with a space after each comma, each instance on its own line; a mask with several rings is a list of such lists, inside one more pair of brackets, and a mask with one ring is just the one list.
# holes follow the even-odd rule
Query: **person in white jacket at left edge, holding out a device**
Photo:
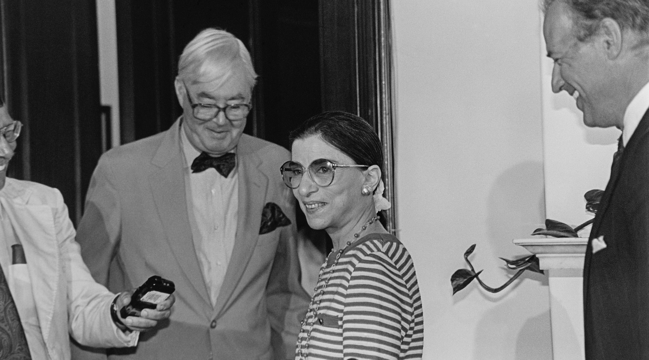
[[0, 359], [70, 359], [69, 335], [88, 346], [136, 346], [175, 298], [141, 317], [119, 315], [130, 292], [93, 280], [61, 193], [6, 177], [20, 129], [0, 102]]

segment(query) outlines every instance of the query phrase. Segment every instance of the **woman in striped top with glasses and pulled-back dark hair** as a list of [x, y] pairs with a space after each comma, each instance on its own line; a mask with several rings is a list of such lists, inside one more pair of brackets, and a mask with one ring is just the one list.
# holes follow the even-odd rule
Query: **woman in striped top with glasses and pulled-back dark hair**
[[328, 111], [291, 133], [282, 179], [333, 249], [302, 321], [295, 359], [421, 359], [423, 315], [410, 254], [378, 221], [383, 153], [365, 120]]

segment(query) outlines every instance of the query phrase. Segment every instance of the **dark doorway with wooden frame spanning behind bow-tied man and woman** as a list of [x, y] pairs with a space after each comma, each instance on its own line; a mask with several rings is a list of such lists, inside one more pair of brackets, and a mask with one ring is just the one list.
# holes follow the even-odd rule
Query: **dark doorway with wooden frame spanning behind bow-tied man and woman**
[[[25, 124], [9, 175], [60, 189], [76, 222], [110, 133], [95, 1], [43, 4], [0, 1], [4, 96]], [[245, 131], [288, 146], [289, 131], [320, 111], [361, 115], [384, 140], [394, 199], [387, 0], [116, 0], [116, 14], [122, 143], [169, 128], [180, 114], [182, 48], [202, 28], [225, 28], [247, 43], [260, 74]], [[394, 210], [386, 214], [393, 231]]]

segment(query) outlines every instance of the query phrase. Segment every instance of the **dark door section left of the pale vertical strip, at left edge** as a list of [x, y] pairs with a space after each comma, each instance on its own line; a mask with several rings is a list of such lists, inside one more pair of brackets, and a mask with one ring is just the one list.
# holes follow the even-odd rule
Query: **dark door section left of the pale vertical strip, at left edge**
[[0, 1], [3, 100], [23, 122], [8, 176], [58, 188], [76, 224], [103, 149], [95, 1]]

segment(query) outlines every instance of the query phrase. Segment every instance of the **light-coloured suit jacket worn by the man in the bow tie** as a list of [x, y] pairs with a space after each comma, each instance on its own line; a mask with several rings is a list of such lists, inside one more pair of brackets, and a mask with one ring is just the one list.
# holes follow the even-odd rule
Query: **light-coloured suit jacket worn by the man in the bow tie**
[[[170, 321], [141, 334], [136, 351], [110, 352], [125, 354], [119, 359], [292, 358], [309, 297], [299, 282], [295, 199], [279, 172], [289, 153], [242, 135], [236, 239], [212, 307], [192, 240], [179, 129], [177, 121], [105, 153], [90, 183], [77, 242], [97, 282], [112, 291], [140, 286], [151, 275], [176, 284]], [[267, 203], [278, 205], [291, 225], [260, 235]]]

